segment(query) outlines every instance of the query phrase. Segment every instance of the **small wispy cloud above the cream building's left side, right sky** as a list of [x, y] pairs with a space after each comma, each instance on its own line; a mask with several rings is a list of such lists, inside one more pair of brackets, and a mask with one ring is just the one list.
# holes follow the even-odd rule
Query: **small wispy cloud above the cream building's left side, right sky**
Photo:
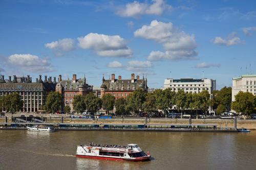
[[213, 43], [230, 46], [230, 45], [237, 45], [239, 43], [242, 43], [242, 41], [239, 37], [236, 36], [236, 33], [231, 33], [226, 38], [215, 37], [215, 39], [213, 40]]

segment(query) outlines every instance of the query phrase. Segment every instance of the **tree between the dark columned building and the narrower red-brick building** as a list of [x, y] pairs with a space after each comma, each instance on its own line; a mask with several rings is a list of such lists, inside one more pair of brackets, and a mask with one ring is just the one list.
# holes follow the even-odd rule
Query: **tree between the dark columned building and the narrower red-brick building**
[[61, 94], [57, 91], [52, 91], [46, 98], [46, 111], [54, 113], [61, 110]]

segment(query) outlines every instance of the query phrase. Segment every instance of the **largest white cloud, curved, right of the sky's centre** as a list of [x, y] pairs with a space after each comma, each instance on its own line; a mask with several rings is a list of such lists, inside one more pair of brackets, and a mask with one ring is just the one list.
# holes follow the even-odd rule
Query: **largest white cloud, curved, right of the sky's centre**
[[149, 26], [136, 30], [134, 36], [152, 39], [163, 45], [166, 51], [152, 51], [147, 58], [150, 61], [195, 59], [197, 56], [195, 36], [179, 30], [172, 22], [153, 20]]

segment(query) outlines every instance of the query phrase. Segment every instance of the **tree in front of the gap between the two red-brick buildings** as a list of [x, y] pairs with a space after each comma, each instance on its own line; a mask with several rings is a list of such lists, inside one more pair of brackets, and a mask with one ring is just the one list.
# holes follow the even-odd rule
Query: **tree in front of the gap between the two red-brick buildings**
[[98, 108], [101, 108], [102, 101], [97, 98], [93, 93], [89, 93], [84, 97], [84, 102], [86, 103], [86, 108], [88, 111], [97, 112]]

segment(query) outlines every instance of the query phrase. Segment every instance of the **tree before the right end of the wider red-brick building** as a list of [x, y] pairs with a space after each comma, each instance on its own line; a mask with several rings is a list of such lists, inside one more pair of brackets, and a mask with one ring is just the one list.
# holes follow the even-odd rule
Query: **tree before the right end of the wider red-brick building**
[[126, 98], [126, 109], [133, 113], [143, 111], [143, 103], [145, 102], [145, 92], [141, 89], [136, 89]]

